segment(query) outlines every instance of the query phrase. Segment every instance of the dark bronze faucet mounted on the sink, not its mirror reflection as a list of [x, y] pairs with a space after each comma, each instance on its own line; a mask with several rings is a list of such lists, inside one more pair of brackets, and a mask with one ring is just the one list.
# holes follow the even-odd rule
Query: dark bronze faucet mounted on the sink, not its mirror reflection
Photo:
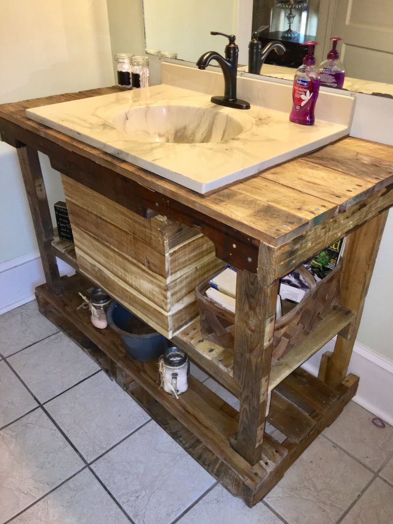
[[214, 104], [234, 107], [236, 109], [249, 109], [250, 104], [245, 100], [236, 98], [236, 81], [237, 81], [237, 59], [239, 48], [235, 43], [235, 35], [225, 35], [224, 33], [210, 31], [211, 35], [221, 35], [229, 39], [225, 47], [225, 58], [216, 51], [208, 51], [202, 54], [196, 65], [199, 69], [206, 69], [212, 60], [216, 60], [224, 75], [224, 96], [212, 96], [211, 101]]

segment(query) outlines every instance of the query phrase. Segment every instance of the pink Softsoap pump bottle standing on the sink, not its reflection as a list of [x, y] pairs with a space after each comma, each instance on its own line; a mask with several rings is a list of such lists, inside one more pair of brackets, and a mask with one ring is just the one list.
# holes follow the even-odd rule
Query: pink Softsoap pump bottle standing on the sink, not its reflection
[[314, 107], [319, 93], [319, 71], [315, 67], [314, 48], [318, 42], [303, 42], [309, 50], [293, 79], [293, 106], [289, 119], [296, 124], [312, 126]]

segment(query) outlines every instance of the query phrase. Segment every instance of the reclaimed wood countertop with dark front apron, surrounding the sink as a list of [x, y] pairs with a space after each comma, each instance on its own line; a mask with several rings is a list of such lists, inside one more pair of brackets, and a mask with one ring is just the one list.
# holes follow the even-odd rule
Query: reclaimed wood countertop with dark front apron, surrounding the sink
[[[28, 107], [116, 91], [96, 89], [0, 105], [0, 134], [11, 145], [42, 151], [54, 169], [74, 171], [74, 179], [139, 214], [158, 212], [199, 228], [216, 245], [217, 256], [236, 267], [255, 271], [261, 244], [275, 250], [288, 246], [352, 206], [359, 208], [373, 194], [383, 195], [393, 183], [393, 147], [347, 137], [202, 196], [25, 115]], [[79, 176], [70, 167], [77, 165], [79, 172], [84, 170]]]

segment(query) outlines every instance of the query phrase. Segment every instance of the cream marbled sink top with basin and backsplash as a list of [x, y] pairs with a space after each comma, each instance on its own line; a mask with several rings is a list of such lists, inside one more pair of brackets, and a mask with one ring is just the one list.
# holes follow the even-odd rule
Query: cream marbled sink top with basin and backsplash
[[211, 93], [223, 89], [221, 73], [162, 67], [166, 83], [33, 108], [26, 114], [202, 194], [349, 134], [351, 96], [321, 93], [317, 106], [323, 108], [316, 111], [315, 124], [300, 126], [288, 119], [290, 85], [239, 78], [238, 96], [252, 106], [237, 110], [210, 102]]

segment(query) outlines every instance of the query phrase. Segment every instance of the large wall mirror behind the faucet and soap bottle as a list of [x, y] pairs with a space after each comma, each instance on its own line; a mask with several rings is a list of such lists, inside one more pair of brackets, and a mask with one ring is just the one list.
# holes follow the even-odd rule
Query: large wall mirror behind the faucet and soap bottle
[[[326, 60], [330, 37], [339, 36], [337, 49], [346, 70], [344, 89], [393, 97], [393, 2], [378, 0], [143, 0], [147, 52], [177, 53], [196, 62], [202, 53], [224, 53], [226, 41], [210, 31], [235, 34], [239, 68], [248, 71], [248, 43], [252, 32], [265, 46], [273, 40], [287, 48], [272, 50], [260, 74], [293, 80], [309, 39], [319, 42], [316, 64]], [[214, 62], [213, 62], [214, 63]]]

